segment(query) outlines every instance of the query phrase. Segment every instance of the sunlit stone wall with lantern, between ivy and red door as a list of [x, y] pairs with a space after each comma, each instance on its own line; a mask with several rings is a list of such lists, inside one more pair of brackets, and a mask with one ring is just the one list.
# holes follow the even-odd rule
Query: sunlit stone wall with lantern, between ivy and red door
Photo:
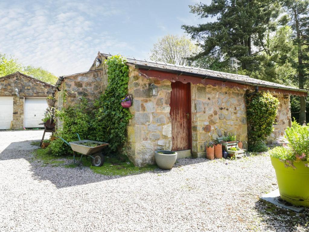
[[[127, 153], [136, 166], [154, 164], [154, 151], [171, 150], [171, 82], [145, 79], [129, 67], [129, 93], [133, 95], [133, 114], [128, 127]], [[158, 96], [150, 97], [148, 84], [158, 86]]]

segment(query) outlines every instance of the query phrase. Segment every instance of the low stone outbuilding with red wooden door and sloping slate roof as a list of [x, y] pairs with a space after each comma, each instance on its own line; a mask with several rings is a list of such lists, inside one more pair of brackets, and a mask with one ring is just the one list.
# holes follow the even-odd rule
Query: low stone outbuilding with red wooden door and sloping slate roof
[[[54, 91], [73, 92], [65, 103], [59, 101], [59, 107], [80, 96], [91, 102], [104, 92], [108, 84], [104, 60], [108, 57], [98, 53], [88, 72], [59, 78]], [[207, 142], [224, 133], [235, 134], [247, 148], [245, 99], [256, 87], [280, 101], [277, 124], [268, 138], [275, 143], [291, 123], [290, 94], [307, 96], [306, 90], [245, 75], [135, 59], [127, 59], [127, 65], [128, 90], [133, 96], [127, 150], [137, 166], [154, 163], [154, 151], [160, 149], [177, 151], [179, 158], [205, 156]], [[157, 96], [150, 96], [151, 84], [158, 87]]]

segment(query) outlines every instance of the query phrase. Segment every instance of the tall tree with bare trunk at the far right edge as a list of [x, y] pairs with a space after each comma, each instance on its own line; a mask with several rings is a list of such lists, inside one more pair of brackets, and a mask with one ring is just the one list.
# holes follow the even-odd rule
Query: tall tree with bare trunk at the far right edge
[[[309, 77], [309, 1], [284, 0], [282, 4], [290, 17], [288, 20], [293, 28], [294, 44], [297, 46], [298, 88], [304, 89]], [[306, 122], [305, 97], [300, 97], [299, 122]]]

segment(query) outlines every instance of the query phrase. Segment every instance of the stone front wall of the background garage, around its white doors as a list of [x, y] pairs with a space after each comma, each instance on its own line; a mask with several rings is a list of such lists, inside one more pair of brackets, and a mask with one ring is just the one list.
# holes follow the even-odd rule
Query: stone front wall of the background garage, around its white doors
[[[16, 88], [19, 90], [19, 97], [16, 96]], [[21, 73], [0, 78], [0, 96], [13, 97], [13, 129], [23, 128], [25, 97], [46, 97], [51, 94], [49, 84]]]

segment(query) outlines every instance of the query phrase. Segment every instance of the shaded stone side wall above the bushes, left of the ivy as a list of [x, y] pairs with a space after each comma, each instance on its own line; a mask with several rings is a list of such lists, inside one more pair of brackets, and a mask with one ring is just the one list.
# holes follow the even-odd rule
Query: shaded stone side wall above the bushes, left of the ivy
[[[98, 99], [107, 86], [106, 69], [99, 69], [85, 73], [64, 76], [59, 89], [66, 91], [66, 101], [63, 107], [78, 103], [81, 97], [85, 97], [92, 104], [93, 100]], [[56, 92], [58, 100], [58, 92]], [[57, 107], [58, 101], [56, 103]]]

